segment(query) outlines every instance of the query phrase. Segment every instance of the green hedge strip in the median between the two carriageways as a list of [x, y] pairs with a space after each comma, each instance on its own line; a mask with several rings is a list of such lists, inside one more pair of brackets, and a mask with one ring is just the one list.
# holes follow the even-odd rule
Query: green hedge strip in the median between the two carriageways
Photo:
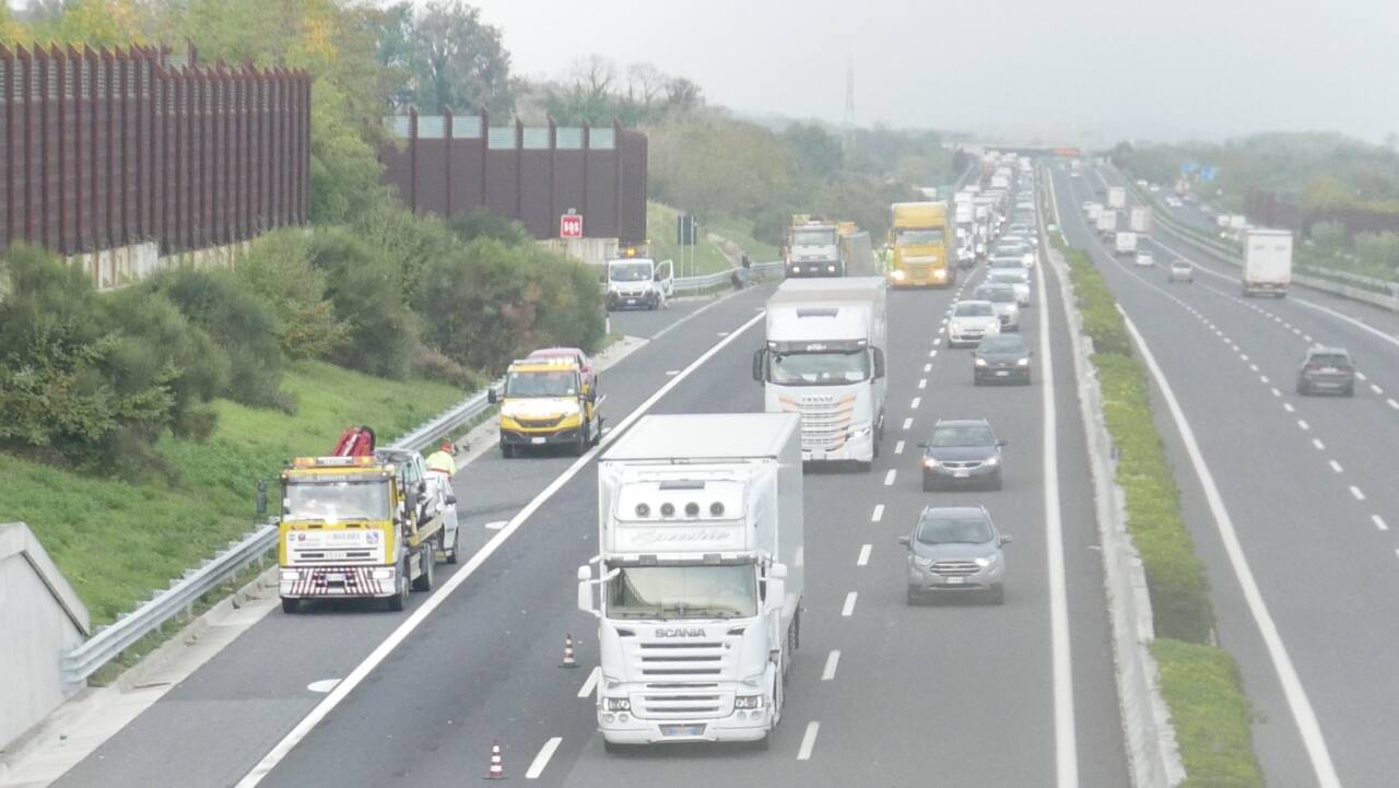
[[1181, 519], [1179, 488], [1153, 420], [1146, 367], [1133, 356], [1112, 293], [1088, 255], [1058, 234], [1051, 239], [1067, 259], [1083, 330], [1093, 340], [1090, 360], [1118, 449], [1116, 483], [1151, 598], [1151, 654], [1188, 773], [1182, 787], [1263, 788], [1252, 705], [1234, 658], [1213, 645], [1209, 582]]

